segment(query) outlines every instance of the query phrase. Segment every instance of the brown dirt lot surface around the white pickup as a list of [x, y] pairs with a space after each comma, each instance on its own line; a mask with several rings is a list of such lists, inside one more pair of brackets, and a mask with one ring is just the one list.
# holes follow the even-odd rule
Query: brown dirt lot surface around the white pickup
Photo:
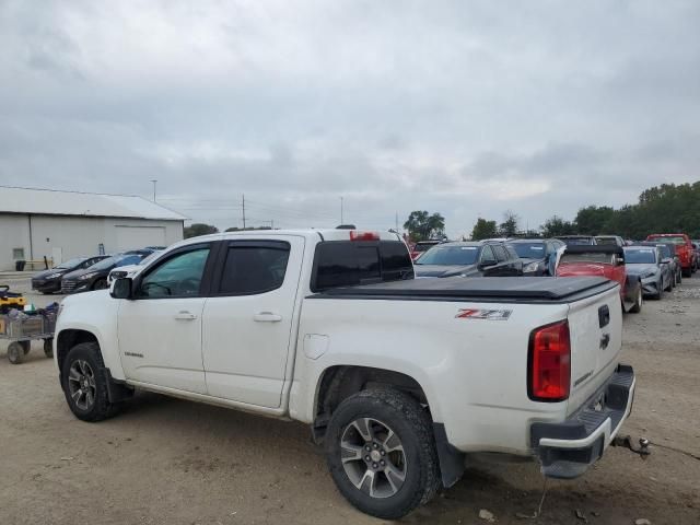
[[[26, 281], [11, 282], [25, 288]], [[47, 298], [31, 296], [36, 304]], [[11, 365], [0, 341], [0, 524], [380, 523], [336, 491], [296, 423], [141, 394], [119, 417], [78, 421], [54, 363], [34, 345]], [[472, 464], [406, 523], [700, 523], [700, 277], [625, 319], [638, 374], [623, 432], [655, 446], [646, 462], [610, 450], [583, 478], [549, 482], [533, 464]], [[580, 516], [576, 516], [576, 511]]]

